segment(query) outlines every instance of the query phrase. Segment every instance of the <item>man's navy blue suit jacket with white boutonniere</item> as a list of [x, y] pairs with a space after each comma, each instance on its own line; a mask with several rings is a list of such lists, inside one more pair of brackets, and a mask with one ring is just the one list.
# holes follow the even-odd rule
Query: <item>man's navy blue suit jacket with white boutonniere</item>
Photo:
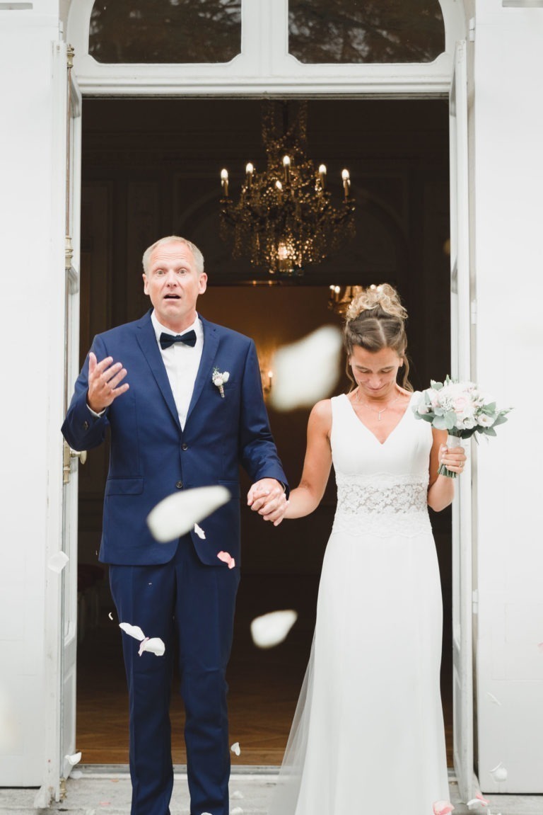
[[[200, 317], [204, 350], [182, 430], [151, 311], [97, 335], [91, 346], [98, 360], [111, 356], [123, 364], [129, 390], [94, 416], [86, 404], [87, 356], [62, 427], [74, 450], [98, 447], [111, 431], [99, 559], [134, 566], [168, 562], [177, 539], [157, 543], [148, 513], [178, 489], [222, 484], [231, 500], [202, 522], [205, 540], [194, 531], [191, 537], [202, 562], [216, 566], [217, 553], [225, 550], [239, 564], [239, 464], [252, 482], [287, 483], [269, 430], [254, 342]], [[212, 383], [214, 368], [230, 373], [224, 398]]]

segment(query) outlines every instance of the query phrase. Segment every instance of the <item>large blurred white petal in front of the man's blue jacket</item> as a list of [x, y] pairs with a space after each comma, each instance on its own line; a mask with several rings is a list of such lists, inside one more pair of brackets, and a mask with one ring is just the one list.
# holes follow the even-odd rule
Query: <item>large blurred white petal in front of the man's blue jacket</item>
[[147, 515], [147, 525], [161, 544], [186, 535], [195, 523], [203, 521], [230, 500], [226, 487], [195, 487], [182, 490], [160, 501]]

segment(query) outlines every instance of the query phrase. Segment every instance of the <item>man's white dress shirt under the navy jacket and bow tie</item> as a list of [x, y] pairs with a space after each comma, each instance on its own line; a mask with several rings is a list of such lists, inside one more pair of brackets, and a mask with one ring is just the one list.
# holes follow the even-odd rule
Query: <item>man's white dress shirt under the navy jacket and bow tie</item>
[[194, 348], [185, 345], [184, 342], [174, 342], [169, 348], [161, 348], [160, 334], [171, 334], [175, 337], [176, 333], [169, 328], [165, 328], [164, 325], [161, 325], [158, 319], [156, 319], [154, 311], [151, 312], [151, 323], [155, 329], [160, 354], [162, 355], [162, 359], [164, 359], [164, 366], [168, 374], [170, 387], [172, 388], [175, 407], [177, 407], [177, 416], [179, 416], [182, 429], [184, 429], [186, 414], [189, 412], [190, 399], [192, 398], [192, 391], [195, 389], [196, 374], [198, 373], [199, 362], [202, 358], [202, 350], [204, 350], [204, 327], [197, 315], [194, 323], [181, 332], [185, 334], [187, 331], [190, 331], [191, 328], [194, 328], [196, 334], [196, 345]]

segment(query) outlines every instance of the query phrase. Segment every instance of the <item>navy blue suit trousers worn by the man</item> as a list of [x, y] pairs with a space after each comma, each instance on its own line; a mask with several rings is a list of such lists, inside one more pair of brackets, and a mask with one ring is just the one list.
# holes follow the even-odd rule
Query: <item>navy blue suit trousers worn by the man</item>
[[[160, 544], [157, 544], [160, 545]], [[170, 689], [179, 661], [191, 815], [228, 815], [230, 747], [226, 666], [239, 568], [199, 560], [190, 535], [158, 566], [110, 566], [119, 621], [164, 641], [164, 656], [122, 633], [129, 689], [131, 815], [169, 815], [173, 790]]]

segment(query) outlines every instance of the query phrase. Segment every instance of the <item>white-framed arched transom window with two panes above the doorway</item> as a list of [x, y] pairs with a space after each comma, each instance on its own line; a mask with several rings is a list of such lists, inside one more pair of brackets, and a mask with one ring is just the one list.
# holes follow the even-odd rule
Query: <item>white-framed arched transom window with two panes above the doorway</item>
[[460, 0], [72, 0], [94, 95], [445, 95]]

